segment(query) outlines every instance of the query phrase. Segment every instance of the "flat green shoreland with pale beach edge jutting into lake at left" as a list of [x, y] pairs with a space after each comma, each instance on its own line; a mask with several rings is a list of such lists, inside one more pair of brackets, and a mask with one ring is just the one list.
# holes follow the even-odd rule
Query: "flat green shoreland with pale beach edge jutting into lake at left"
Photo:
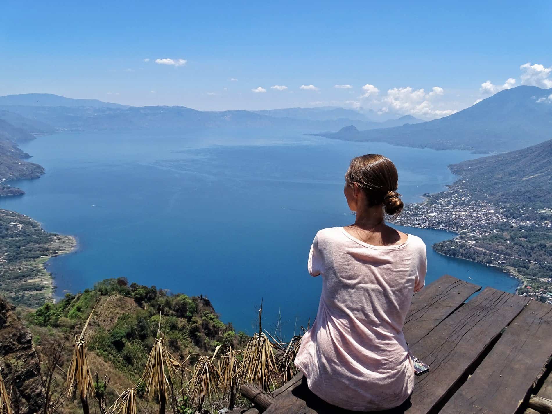
[[44, 304], [52, 290], [44, 262], [74, 246], [73, 237], [46, 232], [35, 220], [0, 209], [0, 293], [16, 305]]

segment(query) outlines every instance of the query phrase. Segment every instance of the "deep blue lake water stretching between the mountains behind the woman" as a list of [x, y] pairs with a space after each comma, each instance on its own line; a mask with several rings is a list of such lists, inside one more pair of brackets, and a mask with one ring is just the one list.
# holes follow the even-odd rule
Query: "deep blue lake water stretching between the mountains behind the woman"
[[[354, 221], [342, 193], [353, 156], [390, 157], [410, 202], [452, 183], [448, 164], [477, 157], [251, 131], [67, 132], [21, 147], [46, 174], [13, 183], [26, 194], [2, 198], [0, 206], [77, 237], [76, 252], [49, 261], [57, 295], [124, 276], [203, 294], [222, 320], [248, 333], [263, 299], [263, 326], [270, 329], [281, 313], [288, 336], [316, 315], [321, 280], [306, 271], [316, 231]], [[426, 242], [428, 282], [448, 273], [515, 290], [516, 279], [496, 268], [431, 249], [452, 233], [402, 230]]]

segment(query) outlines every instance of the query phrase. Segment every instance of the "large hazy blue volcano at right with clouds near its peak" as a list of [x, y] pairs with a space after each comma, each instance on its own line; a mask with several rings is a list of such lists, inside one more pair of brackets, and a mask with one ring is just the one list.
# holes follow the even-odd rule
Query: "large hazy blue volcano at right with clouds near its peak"
[[320, 134], [351, 141], [479, 152], [517, 150], [552, 137], [552, 89], [518, 86], [498, 92], [470, 108], [420, 124], [367, 131]]

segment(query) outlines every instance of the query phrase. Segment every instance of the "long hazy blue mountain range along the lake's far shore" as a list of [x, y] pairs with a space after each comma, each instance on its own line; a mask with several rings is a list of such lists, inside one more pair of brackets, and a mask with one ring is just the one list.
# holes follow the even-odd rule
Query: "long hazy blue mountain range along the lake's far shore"
[[71, 99], [36, 93], [0, 97], [0, 119], [14, 125], [26, 125], [34, 133], [51, 132], [52, 129], [123, 131], [205, 128], [274, 128], [319, 132], [336, 130], [346, 125], [372, 129], [422, 122], [407, 116], [378, 123], [355, 110], [336, 107], [216, 112], [187, 107], [130, 107], [95, 99]]

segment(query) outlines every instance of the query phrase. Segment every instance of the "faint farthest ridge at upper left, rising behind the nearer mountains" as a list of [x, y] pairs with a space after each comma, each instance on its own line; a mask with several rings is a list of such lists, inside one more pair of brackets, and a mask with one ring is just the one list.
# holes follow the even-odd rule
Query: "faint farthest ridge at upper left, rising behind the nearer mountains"
[[92, 107], [92, 108], [128, 108], [128, 105], [119, 105], [102, 102], [98, 99], [72, 99], [51, 93], [22, 93], [0, 97], [0, 105], [20, 105], [30, 107]]

